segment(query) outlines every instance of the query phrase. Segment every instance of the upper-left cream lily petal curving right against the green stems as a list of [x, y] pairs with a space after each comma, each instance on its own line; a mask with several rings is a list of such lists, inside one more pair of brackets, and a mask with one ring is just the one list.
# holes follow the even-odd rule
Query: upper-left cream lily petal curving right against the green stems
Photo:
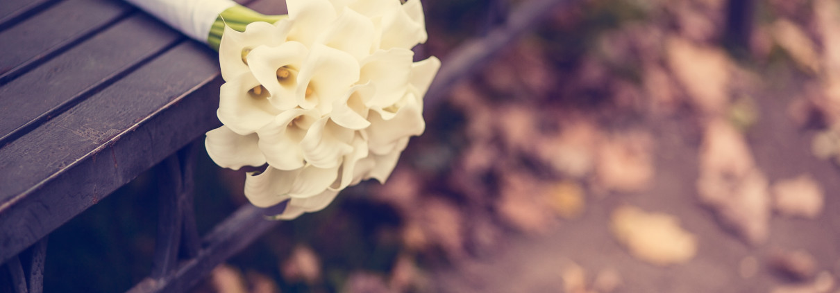
[[222, 42], [218, 47], [218, 63], [222, 69], [222, 78], [230, 81], [249, 72], [248, 64], [242, 60], [243, 49], [255, 49], [257, 46], [276, 46], [286, 40], [286, 33], [291, 28], [288, 19], [275, 24], [265, 22], [249, 23], [244, 33], [224, 27]]

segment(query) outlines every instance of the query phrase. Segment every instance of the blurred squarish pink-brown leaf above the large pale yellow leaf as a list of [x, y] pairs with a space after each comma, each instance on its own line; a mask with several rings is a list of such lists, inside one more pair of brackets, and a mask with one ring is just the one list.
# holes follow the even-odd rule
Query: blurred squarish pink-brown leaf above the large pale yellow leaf
[[598, 149], [597, 182], [618, 192], [648, 188], [654, 177], [651, 138], [647, 133], [628, 132], [612, 137]]

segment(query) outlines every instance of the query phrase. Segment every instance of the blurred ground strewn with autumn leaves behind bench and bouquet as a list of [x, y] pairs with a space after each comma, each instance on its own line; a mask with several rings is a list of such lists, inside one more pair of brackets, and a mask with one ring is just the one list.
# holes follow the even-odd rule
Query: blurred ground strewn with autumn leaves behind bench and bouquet
[[[445, 64], [529, 1], [425, 0], [418, 52]], [[279, 225], [194, 292], [840, 292], [840, 2], [547, 13], [426, 108], [386, 184]], [[246, 199], [198, 149], [204, 234]], [[50, 234], [45, 290], [148, 275], [156, 188], [153, 169]]]

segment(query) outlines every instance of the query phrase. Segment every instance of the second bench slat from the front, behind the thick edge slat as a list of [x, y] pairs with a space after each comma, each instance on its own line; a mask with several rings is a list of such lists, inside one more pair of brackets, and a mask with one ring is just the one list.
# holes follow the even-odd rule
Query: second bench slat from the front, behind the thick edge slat
[[[0, 87], [0, 146], [85, 99], [181, 34], [138, 14]], [[83, 74], [82, 74], [83, 73]]]

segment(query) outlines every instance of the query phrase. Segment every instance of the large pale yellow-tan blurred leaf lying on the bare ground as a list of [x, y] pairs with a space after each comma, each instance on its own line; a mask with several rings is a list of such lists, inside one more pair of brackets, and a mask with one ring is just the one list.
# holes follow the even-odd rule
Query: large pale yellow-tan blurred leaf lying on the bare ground
[[682, 229], [679, 222], [666, 213], [646, 213], [623, 206], [612, 212], [610, 228], [618, 242], [639, 260], [674, 265], [690, 260], [697, 253], [695, 235]]

